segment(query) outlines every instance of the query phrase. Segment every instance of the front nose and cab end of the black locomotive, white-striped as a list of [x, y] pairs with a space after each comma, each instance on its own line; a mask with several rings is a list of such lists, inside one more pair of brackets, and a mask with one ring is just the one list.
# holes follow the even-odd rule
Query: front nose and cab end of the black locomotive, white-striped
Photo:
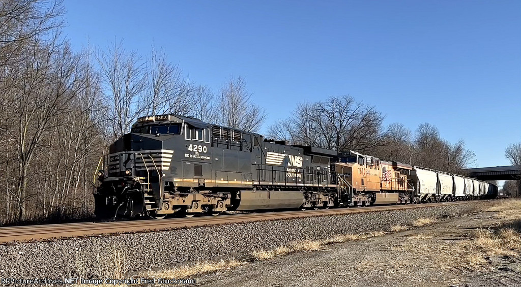
[[162, 217], [157, 215], [164, 198], [162, 178], [173, 155], [164, 147], [182, 137], [182, 127], [183, 120], [172, 115], [145, 116], [110, 145], [94, 193], [97, 217]]

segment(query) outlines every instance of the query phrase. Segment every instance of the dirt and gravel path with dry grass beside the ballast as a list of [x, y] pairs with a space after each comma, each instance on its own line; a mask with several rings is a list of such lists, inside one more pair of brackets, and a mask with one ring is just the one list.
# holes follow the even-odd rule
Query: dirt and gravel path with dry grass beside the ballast
[[193, 279], [200, 286], [521, 286], [519, 253], [485, 247], [476, 251], [471, 246], [490, 243], [472, 238], [479, 228], [497, 226], [494, 215], [439, 219], [426, 227], [329, 244], [324, 251], [294, 253]]

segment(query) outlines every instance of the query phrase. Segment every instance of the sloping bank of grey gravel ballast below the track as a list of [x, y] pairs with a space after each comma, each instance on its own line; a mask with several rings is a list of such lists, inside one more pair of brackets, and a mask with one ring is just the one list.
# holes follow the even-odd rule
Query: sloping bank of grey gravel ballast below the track
[[[179, 263], [242, 256], [337, 234], [385, 230], [420, 217], [456, 216], [479, 202], [0, 245], [0, 278], [105, 278]], [[114, 263], [122, 263], [122, 267]], [[112, 272], [109, 274], [109, 272]]]

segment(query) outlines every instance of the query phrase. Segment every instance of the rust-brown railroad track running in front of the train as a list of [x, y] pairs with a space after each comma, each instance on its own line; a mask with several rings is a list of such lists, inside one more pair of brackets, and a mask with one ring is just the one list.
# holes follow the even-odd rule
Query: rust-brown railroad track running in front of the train
[[308, 211], [283, 211], [283, 212], [263, 212], [228, 214], [214, 216], [200, 216], [193, 218], [172, 218], [162, 220], [133, 220], [115, 221], [98, 223], [71, 223], [71, 224], [51, 224], [51, 225], [31, 225], [17, 227], [0, 228], [0, 244], [20, 242], [20, 241], [41, 241], [55, 240], [72, 237], [89, 237], [110, 234], [145, 232], [168, 229], [179, 229], [209, 225], [246, 223], [251, 221], [291, 219], [299, 217], [342, 215], [352, 213], [365, 213], [389, 210], [404, 210], [410, 208], [435, 207], [453, 204], [467, 204], [469, 201], [462, 202], [443, 202], [429, 204], [410, 204], [410, 205], [386, 205], [368, 206], [357, 208], [333, 208], [329, 210], [308, 210]]

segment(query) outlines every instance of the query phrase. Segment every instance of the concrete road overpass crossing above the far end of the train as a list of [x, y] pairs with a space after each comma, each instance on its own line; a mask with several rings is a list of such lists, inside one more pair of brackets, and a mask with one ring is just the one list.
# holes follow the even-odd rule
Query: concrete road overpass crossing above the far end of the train
[[517, 180], [516, 196], [521, 195], [521, 165], [467, 168], [464, 172], [481, 180]]

